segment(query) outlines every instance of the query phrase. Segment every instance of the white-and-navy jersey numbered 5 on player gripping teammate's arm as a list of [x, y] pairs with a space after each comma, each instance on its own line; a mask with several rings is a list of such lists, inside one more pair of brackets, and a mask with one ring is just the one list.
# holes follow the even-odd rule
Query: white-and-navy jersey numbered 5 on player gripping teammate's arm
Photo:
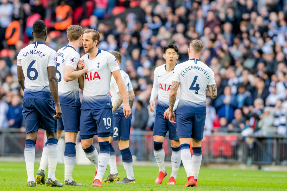
[[72, 66], [76, 70], [79, 59], [79, 53], [69, 45], [66, 45], [57, 52], [56, 72], [61, 105], [81, 106], [78, 79], [69, 82], [63, 79], [65, 67]]

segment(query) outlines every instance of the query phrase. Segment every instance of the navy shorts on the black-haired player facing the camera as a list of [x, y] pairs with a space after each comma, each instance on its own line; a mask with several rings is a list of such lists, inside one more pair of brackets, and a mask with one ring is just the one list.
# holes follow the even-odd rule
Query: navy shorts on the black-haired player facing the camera
[[[175, 115], [177, 119], [177, 115]], [[154, 119], [154, 135], [160, 135], [165, 137], [168, 131], [170, 140], [179, 140], [177, 138], [177, 124], [170, 123], [169, 119], [163, 118], [163, 113], [156, 113], [156, 118]]]

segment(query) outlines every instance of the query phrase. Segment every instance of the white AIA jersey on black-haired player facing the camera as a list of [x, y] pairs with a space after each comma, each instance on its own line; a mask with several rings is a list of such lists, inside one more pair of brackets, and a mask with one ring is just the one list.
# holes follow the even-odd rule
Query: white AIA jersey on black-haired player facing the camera
[[[150, 96], [150, 101], [156, 99], [158, 96], [158, 104], [156, 106], [156, 112], [164, 113], [168, 109], [169, 105], [169, 92], [171, 89], [172, 74], [171, 72], [166, 72], [166, 64], [156, 67], [154, 69], [154, 84], [152, 86], [152, 94]], [[179, 99], [179, 89], [177, 90], [177, 99]]]

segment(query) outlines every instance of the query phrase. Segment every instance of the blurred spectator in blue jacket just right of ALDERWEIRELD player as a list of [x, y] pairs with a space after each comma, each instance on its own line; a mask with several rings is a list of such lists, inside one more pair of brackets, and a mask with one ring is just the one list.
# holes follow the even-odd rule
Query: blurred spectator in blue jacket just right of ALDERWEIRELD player
[[234, 119], [234, 111], [237, 105], [236, 98], [231, 94], [231, 87], [226, 86], [224, 94], [216, 99], [214, 107], [217, 109], [219, 117], [225, 117], [227, 123], [230, 123]]

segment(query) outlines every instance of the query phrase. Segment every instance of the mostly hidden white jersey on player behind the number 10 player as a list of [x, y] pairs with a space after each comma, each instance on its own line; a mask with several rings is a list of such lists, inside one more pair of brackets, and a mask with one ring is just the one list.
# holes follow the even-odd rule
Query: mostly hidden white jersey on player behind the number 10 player
[[[129, 79], [129, 75], [127, 75], [127, 73], [125, 73], [123, 70], [120, 69], [121, 72], [121, 76], [123, 78], [123, 81], [125, 83], [125, 87], [127, 89], [127, 97], [129, 97], [129, 91], [133, 90], [133, 86], [131, 85], [131, 80]], [[112, 104], [114, 105], [117, 97], [118, 97], [118, 92], [119, 92], [119, 86], [114, 78], [114, 76], [112, 76], [111, 80], [110, 80], [110, 97], [112, 99]], [[117, 115], [122, 114], [123, 115], [123, 103], [122, 105], [115, 111], [115, 113], [117, 113]]]

